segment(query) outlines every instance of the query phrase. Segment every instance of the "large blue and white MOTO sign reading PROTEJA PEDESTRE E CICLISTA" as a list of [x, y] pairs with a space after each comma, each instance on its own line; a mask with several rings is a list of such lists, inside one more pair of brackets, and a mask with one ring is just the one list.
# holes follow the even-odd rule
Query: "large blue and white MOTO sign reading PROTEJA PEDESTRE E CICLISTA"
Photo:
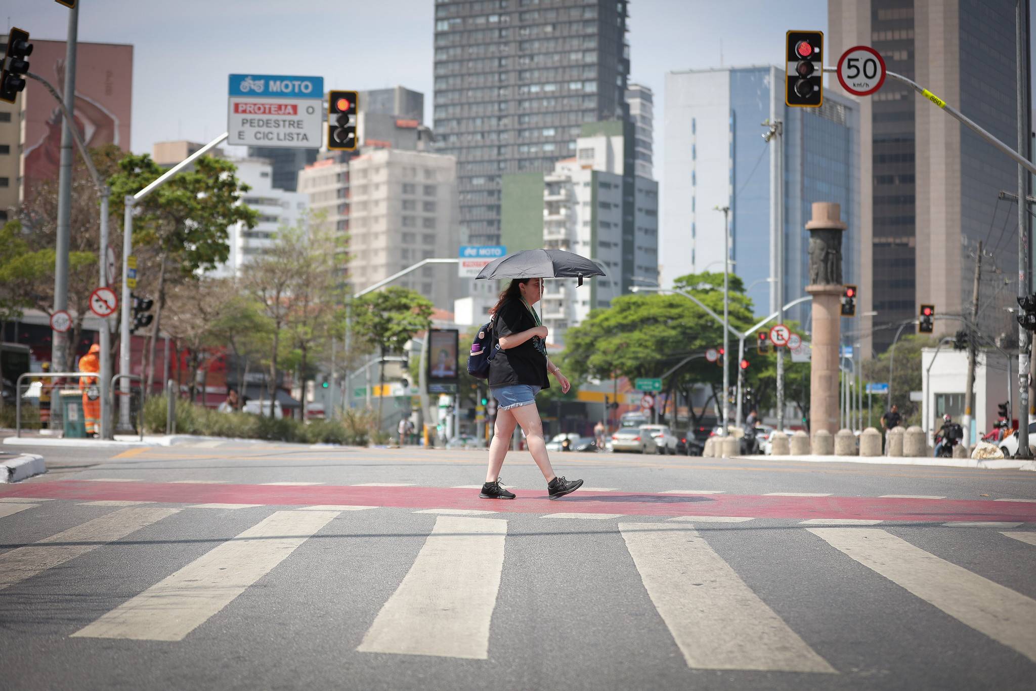
[[318, 149], [323, 133], [323, 77], [230, 75], [227, 143]]

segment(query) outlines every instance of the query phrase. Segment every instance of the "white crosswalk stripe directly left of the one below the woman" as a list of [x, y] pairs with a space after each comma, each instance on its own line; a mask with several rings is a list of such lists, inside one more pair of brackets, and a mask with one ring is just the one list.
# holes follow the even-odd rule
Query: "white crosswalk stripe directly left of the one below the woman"
[[336, 516], [335, 511], [278, 511], [73, 636], [182, 640]]

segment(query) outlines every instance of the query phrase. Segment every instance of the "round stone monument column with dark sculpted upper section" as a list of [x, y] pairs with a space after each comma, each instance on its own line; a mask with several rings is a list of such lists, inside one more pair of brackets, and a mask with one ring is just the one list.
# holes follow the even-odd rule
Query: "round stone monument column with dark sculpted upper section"
[[814, 202], [809, 231], [809, 285], [813, 296], [813, 333], [810, 366], [809, 432], [838, 432], [838, 374], [841, 346], [841, 207], [835, 202]]

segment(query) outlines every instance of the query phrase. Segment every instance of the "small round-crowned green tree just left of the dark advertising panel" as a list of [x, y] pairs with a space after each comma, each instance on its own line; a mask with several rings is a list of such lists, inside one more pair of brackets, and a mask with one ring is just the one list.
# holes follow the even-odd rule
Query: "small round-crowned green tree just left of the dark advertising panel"
[[[432, 325], [432, 303], [421, 293], [398, 286], [367, 293], [352, 305], [353, 328], [356, 338], [376, 349], [382, 357], [378, 383], [382, 393], [385, 383], [384, 356], [403, 352], [406, 342]], [[427, 337], [426, 337], [427, 338]], [[378, 429], [384, 397], [378, 397]]]

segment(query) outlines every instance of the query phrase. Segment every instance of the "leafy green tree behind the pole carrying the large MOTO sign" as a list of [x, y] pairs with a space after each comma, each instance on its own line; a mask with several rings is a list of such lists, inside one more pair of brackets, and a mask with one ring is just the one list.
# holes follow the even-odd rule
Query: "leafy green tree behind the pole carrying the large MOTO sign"
[[[143, 190], [165, 172], [149, 155], [128, 154], [112, 176], [112, 209], [122, 213], [123, 199]], [[234, 175], [236, 167], [221, 159], [202, 156], [194, 170], [183, 171], [137, 205], [134, 247], [147, 247], [153, 256], [147, 269], [157, 273], [154, 320], [147, 349], [147, 391], [154, 381], [154, 343], [166, 306], [167, 283], [184, 283], [225, 262], [230, 253], [227, 228], [243, 223], [255, 227], [258, 214], [239, 203], [249, 186]], [[138, 262], [140, 268], [141, 262]]]

